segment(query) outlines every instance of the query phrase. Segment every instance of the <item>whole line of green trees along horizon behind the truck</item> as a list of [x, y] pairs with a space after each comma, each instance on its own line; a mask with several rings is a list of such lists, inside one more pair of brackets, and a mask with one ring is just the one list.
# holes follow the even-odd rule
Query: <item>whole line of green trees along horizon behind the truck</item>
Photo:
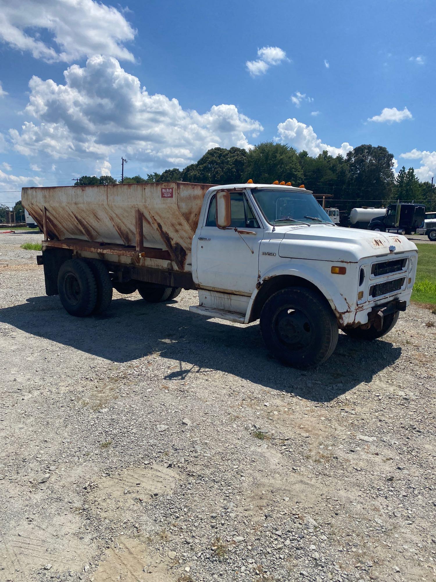
[[[184, 169], [171, 168], [162, 173], [124, 178], [124, 183], [195, 182], [205, 184], [272, 183], [274, 180], [304, 184], [314, 194], [331, 194], [330, 205], [349, 211], [360, 205], [380, 206], [401, 200], [414, 201], [431, 210], [435, 191], [430, 182], [420, 182], [413, 168], [405, 166], [394, 173], [394, 155], [383, 145], [362, 144], [334, 157], [323, 151], [312, 157], [285, 144], [265, 141], [252, 150], [216, 147], [208, 150], [195, 164]], [[82, 176], [76, 185], [116, 184], [112, 176]]]

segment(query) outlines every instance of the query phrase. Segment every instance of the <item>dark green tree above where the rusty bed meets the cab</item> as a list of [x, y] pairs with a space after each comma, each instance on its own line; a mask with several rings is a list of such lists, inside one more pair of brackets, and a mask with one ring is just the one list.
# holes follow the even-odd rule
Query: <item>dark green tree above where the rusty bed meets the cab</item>
[[239, 147], [229, 150], [215, 147], [206, 151], [196, 164], [187, 166], [181, 173], [183, 182], [203, 184], [235, 184], [242, 182], [246, 151]]

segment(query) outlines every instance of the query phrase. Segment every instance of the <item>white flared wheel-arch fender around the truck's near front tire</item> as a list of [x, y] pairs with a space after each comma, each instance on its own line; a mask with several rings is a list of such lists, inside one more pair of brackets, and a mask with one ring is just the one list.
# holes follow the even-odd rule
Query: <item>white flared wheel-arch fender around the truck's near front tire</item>
[[[325, 261], [319, 261], [324, 263]], [[328, 264], [330, 267], [330, 263]], [[344, 293], [341, 293], [341, 290], [337, 285], [335, 285], [334, 281], [331, 277], [327, 276], [323, 272], [319, 271], [314, 267], [310, 267], [306, 264], [301, 265], [290, 265], [289, 267], [285, 267], [285, 265], [276, 265], [272, 267], [268, 271], [266, 271], [259, 279], [256, 289], [253, 291], [250, 301], [248, 303], [248, 308], [245, 315], [245, 323], [250, 321], [251, 311], [253, 305], [255, 303], [256, 297], [260, 289], [262, 289], [263, 284], [269, 279], [278, 276], [278, 275], [292, 275], [295, 277], [299, 277], [301, 279], [306, 279], [313, 285], [316, 286], [317, 289], [326, 297], [328, 303], [330, 303], [331, 308], [333, 309], [335, 315], [341, 320], [341, 314], [350, 313], [353, 311], [353, 307], [351, 304], [346, 300]], [[351, 273], [349, 273], [351, 275]], [[346, 275], [337, 275], [338, 282], [343, 281], [342, 277]]]

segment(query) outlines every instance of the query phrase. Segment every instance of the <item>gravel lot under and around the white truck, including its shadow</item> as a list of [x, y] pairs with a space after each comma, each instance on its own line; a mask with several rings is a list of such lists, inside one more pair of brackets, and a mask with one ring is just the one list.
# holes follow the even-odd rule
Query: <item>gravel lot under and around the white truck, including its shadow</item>
[[436, 315], [296, 371], [194, 292], [70, 317], [0, 236], [0, 580], [436, 579]]

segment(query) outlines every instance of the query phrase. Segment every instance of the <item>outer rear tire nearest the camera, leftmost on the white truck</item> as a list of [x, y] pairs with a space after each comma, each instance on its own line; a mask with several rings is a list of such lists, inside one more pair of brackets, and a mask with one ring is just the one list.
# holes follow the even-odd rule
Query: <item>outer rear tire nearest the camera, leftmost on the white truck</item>
[[58, 292], [69, 314], [90, 315], [97, 304], [97, 282], [90, 265], [77, 258], [63, 262], [58, 274]]

